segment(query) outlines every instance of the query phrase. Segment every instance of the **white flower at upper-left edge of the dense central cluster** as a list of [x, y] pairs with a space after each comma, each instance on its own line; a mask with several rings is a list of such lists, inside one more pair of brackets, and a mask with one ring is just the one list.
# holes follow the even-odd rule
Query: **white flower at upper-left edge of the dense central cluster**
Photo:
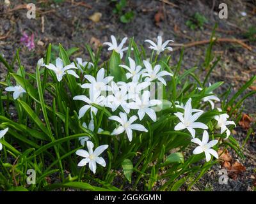
[[104, 78], [105, 69], [101, 68], [98, 73], [96, 79], [91, 75], [84, 75], [89, 83], [81, 85], [83, 89], [94, 89], [95, 91], [107, 91], [110, 89], [108, 83], [113, 80], [114, 77], [106, 77]]

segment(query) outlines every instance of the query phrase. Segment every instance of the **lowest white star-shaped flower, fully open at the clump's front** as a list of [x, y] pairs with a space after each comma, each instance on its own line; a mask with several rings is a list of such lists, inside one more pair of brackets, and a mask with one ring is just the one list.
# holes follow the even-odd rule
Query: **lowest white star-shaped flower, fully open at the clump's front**
[[79, 149], [76, 151], [76, 154], [78, 156], [85, 158], [85, 159], [82, 159], [77, 164], [77, 166], [85, 166], [87, 163], [89, 163], [90, 170], [93, 171], [93, 173], [95, 173], [97, 169], [96, 163], [100, 164], [103, 167], [106, 166], [105, 160], [102, 157], [99, 157], [99, 155], [102, 152], [104, 152], [104, 150], [108, 149], [108, 145], [100, 145], [93, 152], [93, 146], [94, 146], [93, 143], [90, 141], [87, 141], [86, 144], [87, 144], [88, 152], [83, 149]]

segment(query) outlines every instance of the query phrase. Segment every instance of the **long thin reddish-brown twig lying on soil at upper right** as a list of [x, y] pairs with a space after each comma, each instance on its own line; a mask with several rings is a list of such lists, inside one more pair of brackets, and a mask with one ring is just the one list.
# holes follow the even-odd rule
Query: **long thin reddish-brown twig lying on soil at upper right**
[[[193, 47], [196, 45], [204, 45], [207, 43], [210, 43], [211, 40], [201, 40], [201, 41], [195, 41], [192, 43], [186, 43], [183, 44], [182, 47]], [[224, 43], [237, 43], [239, 45], [241, 45], [242, 47], [246, 48], [247, 50], [252, 51], [252, 47], [250, 47], [249, 45], [246, 45], [246, 43], [243, 42], [243, 40], [238, 40], [238, 39], [230, 39], [230, 38], [218, 38], [216, 40], [216, 42], [220, 43], [220, 42], [224, 42]], [[180, 48], [175, 48], [173, 50], [179, 50]]]

